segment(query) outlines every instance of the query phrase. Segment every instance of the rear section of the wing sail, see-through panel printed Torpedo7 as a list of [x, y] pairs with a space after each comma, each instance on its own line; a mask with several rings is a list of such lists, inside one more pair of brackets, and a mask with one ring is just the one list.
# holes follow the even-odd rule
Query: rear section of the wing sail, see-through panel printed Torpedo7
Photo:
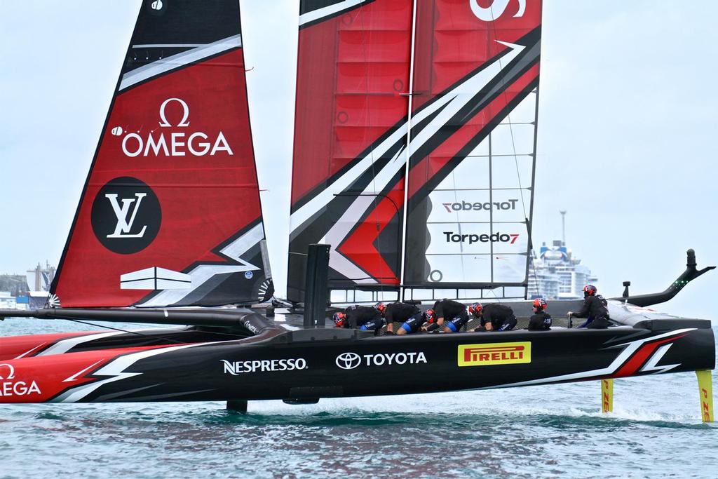
[[525, 296], [540, 40], [538, 0], [418, 2], [406, 287]]

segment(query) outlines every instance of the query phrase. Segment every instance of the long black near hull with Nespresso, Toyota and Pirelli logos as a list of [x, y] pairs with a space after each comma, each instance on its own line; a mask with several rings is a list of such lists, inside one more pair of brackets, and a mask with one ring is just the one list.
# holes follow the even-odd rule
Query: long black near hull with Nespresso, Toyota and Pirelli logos
[[[430, 393], [712, 369], [714, 351], [709, 327], [380, 338], [349, 330], [271, 329], [222, 343], [64, 354], [55, 366], [65, 371], [55, 379], [47, 374], [55, 367], [49, 358], [6, 361], [15, 381], [32, 378], [41, 392], [0, 399], [228, 401]], [[77, 376], [81, 384], [57, 382], [103, 355]], [[462, 358], [470, 364], [460, 366]]]

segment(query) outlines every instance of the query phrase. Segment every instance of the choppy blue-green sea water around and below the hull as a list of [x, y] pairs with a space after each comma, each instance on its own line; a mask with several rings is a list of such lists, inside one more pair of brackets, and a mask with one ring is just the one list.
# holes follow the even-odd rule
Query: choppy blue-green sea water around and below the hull
[[[6, 320], [0, 335], [96, 329]], [[377, 377], [381, 381], [381, 377]], [[0, 478], [718, 477], [694, 373], [600, 383], [223, 403], [3, 405]], [[718, 386], [717, 386], [718, 387]]]

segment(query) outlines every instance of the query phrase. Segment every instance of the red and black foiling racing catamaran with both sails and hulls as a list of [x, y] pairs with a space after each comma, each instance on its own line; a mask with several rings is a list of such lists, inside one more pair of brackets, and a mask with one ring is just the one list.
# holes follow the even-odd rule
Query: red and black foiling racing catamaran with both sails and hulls
[[0, 338], [0, 402], [243, 409], [714, 368], [709, 321], [645, 309], [712, 269], [693, 251], [666, 292], [610, 299], [607, 330], [324, 327], [327, 292], [528, 312], [540, 1], [301, 1], [286, 303], [242, 45], [237, 0], [143, 1], [50, 302], [0, 312], [183, 326]]

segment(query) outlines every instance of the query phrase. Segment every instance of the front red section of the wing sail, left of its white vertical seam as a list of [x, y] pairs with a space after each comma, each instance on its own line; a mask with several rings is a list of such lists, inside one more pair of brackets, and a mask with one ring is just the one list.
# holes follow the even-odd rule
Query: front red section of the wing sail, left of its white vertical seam
[[287, 295], [307, 247], [331, 245], [329, 284], [397, 289], [412, 0], [302, 0]]

